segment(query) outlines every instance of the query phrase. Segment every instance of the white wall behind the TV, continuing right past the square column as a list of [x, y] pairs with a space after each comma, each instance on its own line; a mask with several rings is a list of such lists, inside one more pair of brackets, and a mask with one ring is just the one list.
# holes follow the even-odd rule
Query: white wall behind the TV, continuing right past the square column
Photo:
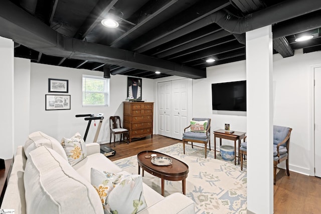
[[[289, 153], [290, 170], [310, 174], [310, 88], [311, 66], [321, 64], [321, 52], [303, 54], [295, 51], [293, 57], [282, 58], [273, 55], [273, 124], [291, 127]], [[212, 130], [224, 128], [225, 123], [232, 130], [246, 132], [246, 116], [212, 114], [211, 84], [246, 79], [245, 61], [207, 68], [207, 78], [193, 80], [193, 116], [210, 115]], [[199, 96], [199, 94], [202, 94]], [[211, 139], [213, 141], [213, 136]], [[223, 142], [232, 145], [232, 141]], [[214, 143], [212, 143], [214, 147]], [[279, 164], [285, 167], [284, 163]]]

